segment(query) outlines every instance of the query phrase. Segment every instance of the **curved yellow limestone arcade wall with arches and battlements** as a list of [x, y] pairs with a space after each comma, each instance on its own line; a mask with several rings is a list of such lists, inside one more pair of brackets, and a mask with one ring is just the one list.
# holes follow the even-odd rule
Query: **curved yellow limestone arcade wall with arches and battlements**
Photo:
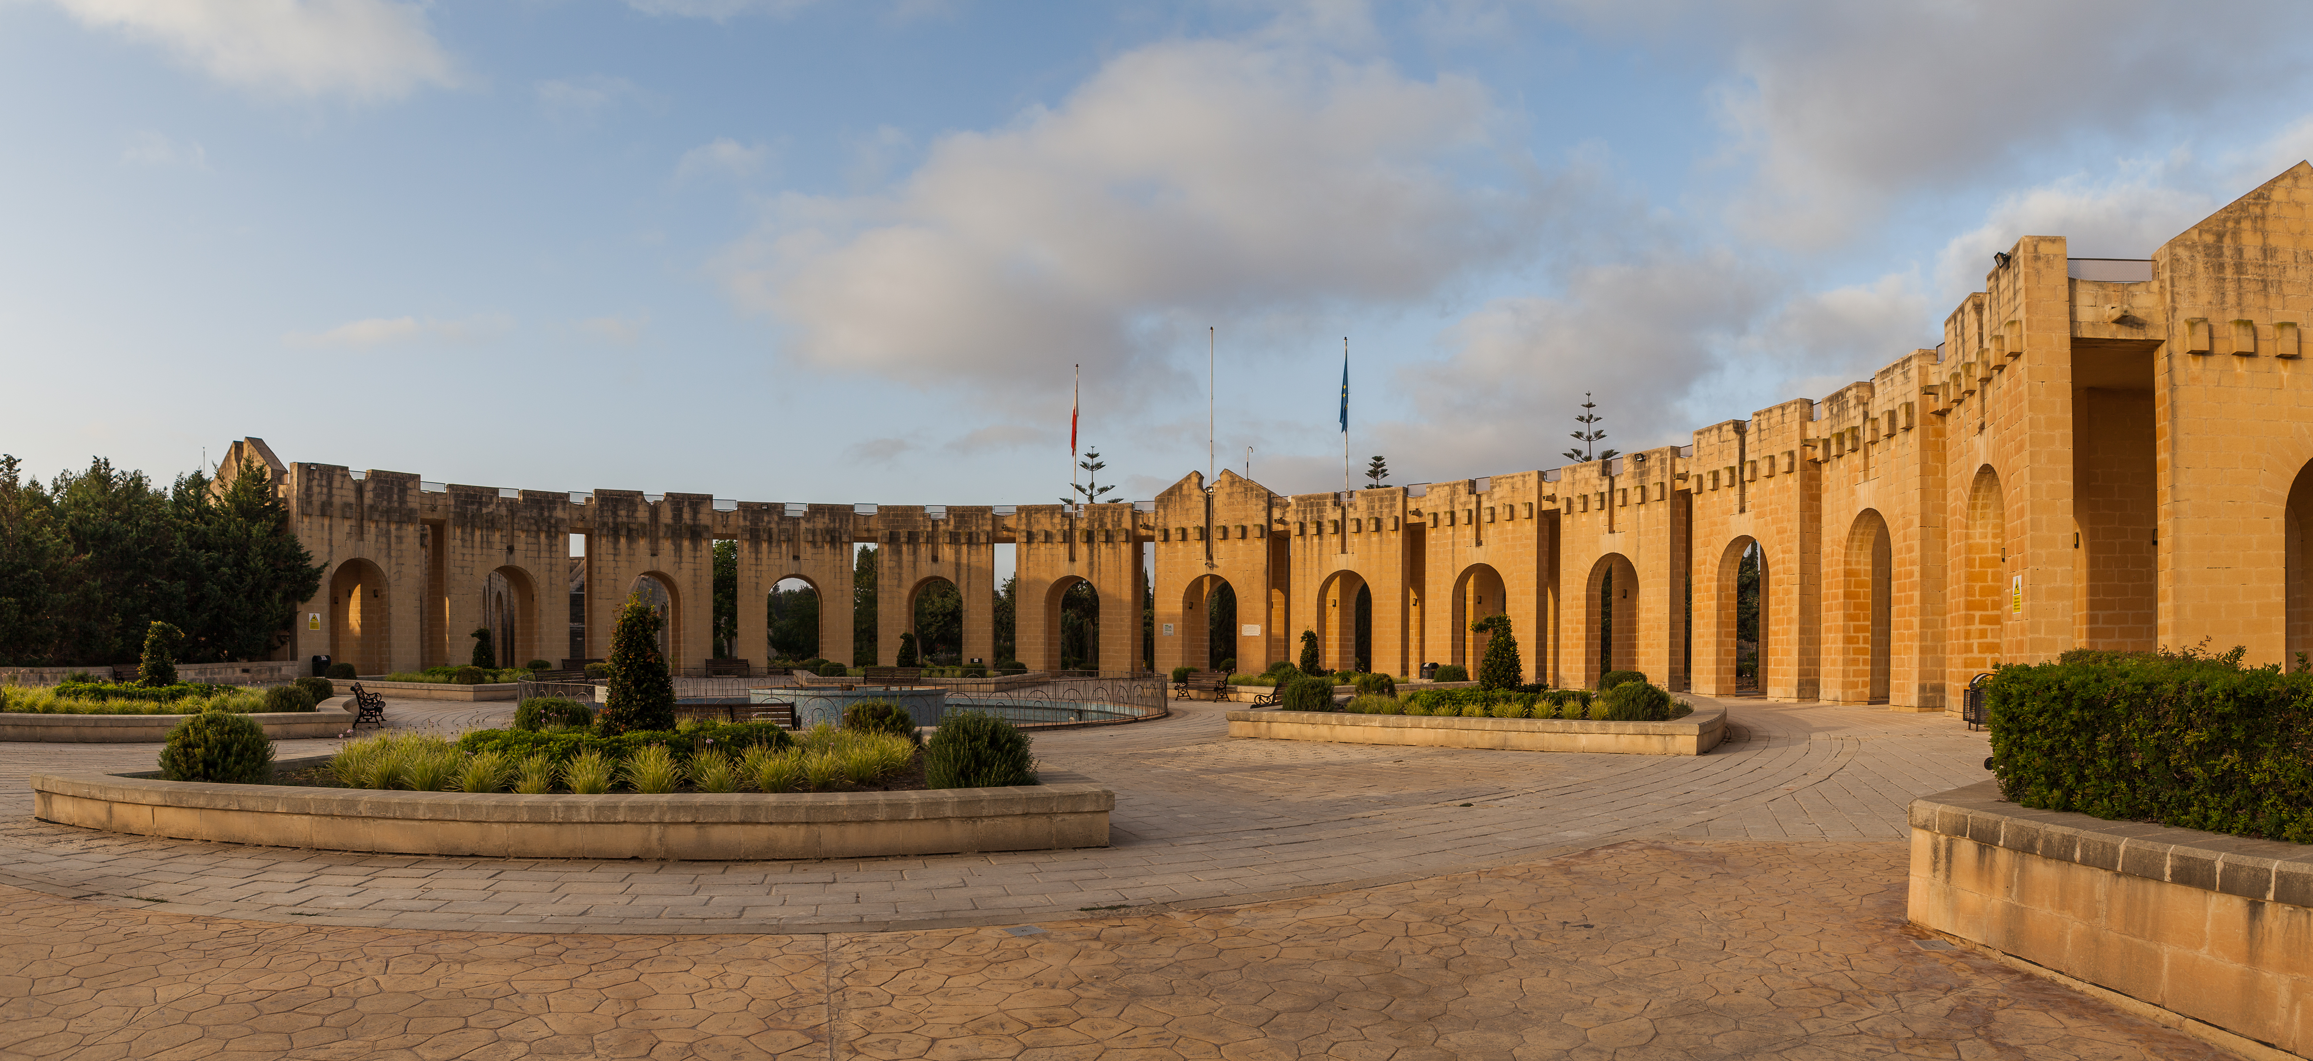
[[[1635, 668], [1730, 693], [1735, 571], [1756, 541], [1767, 696], [1948, 710], [1991, 663], [2068, 647], [2209, 638], [2246, 645], [2251, 663], [2313, 652], [2308, 203], [2313, 166], [2297, 164], [2149, 261], [2019, 238], [1945, 319], [1941, 347], [1823, 400], [1700, 428], [1686, 446], [1557, 469], [1321, 495], [1221, 472], [1138, 506], [872, 511], [354, 478], [282, 462], [261, 439], [236, 442], [227, 472], [243, 458], [271, 467], [328, 566], [282, 656], [328, 652], [363, 673], [463, 661], [493, 571], [516, 587], [516, 656], [567, 656], [567, 536], [585, 534], [590, 656], [648, 573], [673, 596], [675, 663], [701, 668], [712, 543], [733, 539], [742, 601], [782, 578], [819, 589], [830, 659], [849, 659], [851, 550], [872, 541], [884, 661], [914, 594], [939, 578], [965, 596], [965, 656], [992, 661], [992, 550], [1013, 543], [1032, 668], [1059, 663], [1059, 594], [1078, 580], [1101, 594], [1110, 673], [1214, 663], [1205, 615], [1221, 585], [1237, 599], [1240, 670], [1298, 659], [1302, 631], [1348, 668], [1362, 589], [1374, 668], [1476, 666], [1485, 645], [1469, 624], [1506, 613], [1527, 680]], [[749, 659], [768, 652], [761, 608], [740, 608], [738, 643]]]

